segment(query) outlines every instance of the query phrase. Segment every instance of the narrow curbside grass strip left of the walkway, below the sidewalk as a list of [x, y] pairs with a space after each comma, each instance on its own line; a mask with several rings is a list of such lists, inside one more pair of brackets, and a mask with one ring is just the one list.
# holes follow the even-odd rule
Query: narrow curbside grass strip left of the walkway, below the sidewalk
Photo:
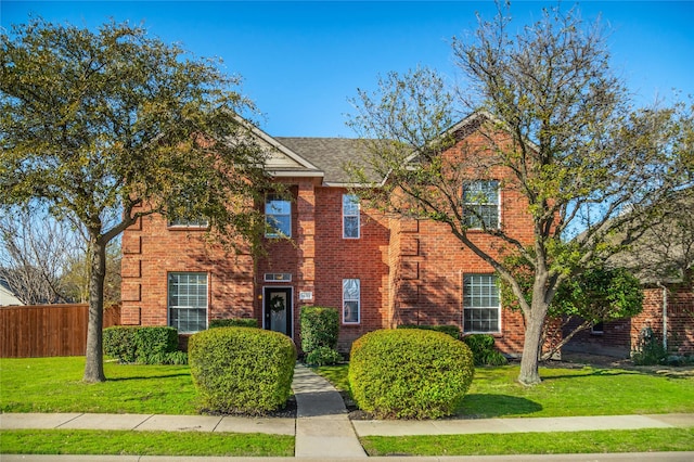
[[294, 437], [203, 432], [14, 429], [3, 454], [293, 457]]

